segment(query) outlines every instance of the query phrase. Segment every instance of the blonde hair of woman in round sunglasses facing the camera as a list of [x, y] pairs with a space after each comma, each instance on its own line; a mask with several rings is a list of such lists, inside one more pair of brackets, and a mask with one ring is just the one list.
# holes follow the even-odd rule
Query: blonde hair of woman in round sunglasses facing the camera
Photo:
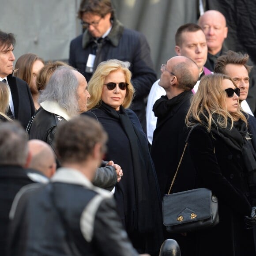
[[107, 60], [101, 62], [98, 65], [88, 83], [90, 99], [88, 99], [87, 110], [93, 109], [94, 107], [98, 107], [99, 105], [101, 105], [102, 90], [105, 78], [111, 72], [118, 70], [124, 72], [125, 82], [128, 83], [128, 88], [126, 89], [126, 95], [122, 106], [127, 109], [131, 105], [135, 90], [131, 83], [132, 73], [129, 70], [129, 67], [130, 63], [128, 61], [121, 60]]

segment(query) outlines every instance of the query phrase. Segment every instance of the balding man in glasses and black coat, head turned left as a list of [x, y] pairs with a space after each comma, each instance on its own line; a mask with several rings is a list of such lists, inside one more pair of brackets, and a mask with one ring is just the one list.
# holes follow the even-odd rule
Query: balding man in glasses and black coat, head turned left
[[[151, 156], [154, 162], [161, 195], [168, 193], [174, 172], [177, 169], [187, 137], [185, 116], [193, 95], [191, 89], [199, 77], [196, 63], [185, 57], [175, 56], [162, 65], [159, 85], [166, 91], [166, 95], [158, 99], [154, 106], [157, 125], [154, 130], [151, 146]], [[177, 184], [188, 188], [193, 174], [186, 173], [188, 178]], [[185, 171], [185, 170], [184, 170]], [[184, 189], [187, 190], [187, 189]]]

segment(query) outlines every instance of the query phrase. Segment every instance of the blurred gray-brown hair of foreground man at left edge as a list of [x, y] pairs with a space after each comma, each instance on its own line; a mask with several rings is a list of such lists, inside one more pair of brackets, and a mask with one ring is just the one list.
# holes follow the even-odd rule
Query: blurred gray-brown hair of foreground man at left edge
[[18, 121], [0, 123], [0, 165], [24, 167], [28, 156], [27, 139]]

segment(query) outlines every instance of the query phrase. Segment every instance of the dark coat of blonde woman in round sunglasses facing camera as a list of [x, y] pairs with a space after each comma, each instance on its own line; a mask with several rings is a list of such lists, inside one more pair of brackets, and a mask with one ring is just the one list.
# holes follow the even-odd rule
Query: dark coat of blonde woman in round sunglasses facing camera
[[[97, 119], [102, 124], [109, 136], [105, 160], [113, 160], [123, 169], [124, 176], [116, 185], [114, 197], [117, 201], [117, 211], [129, 238], [140, 253], [146, 250], [154, 256], [158, 255], [163, 242], [158, 182], [148, 150], [147, 137], [136, 114], [130, 109], [125, 111], [139, 139], [136, 140], [138, 144], [135, 143], [138, 145], [138, 159], [133, 158], [131, 141], [119, 119], [113, 118], [102, 109], [91, 109], [83, 114]], [[139, 162], [138, 169], [134, 168], [138, 166], [134, 163], [136, 160]], [[141, 174], [142, 181], [138, 179]], [[149, 210], [144, 213], [141, 207], [143, 210]], [[145, 241], [147, 248], [143, 248]]]

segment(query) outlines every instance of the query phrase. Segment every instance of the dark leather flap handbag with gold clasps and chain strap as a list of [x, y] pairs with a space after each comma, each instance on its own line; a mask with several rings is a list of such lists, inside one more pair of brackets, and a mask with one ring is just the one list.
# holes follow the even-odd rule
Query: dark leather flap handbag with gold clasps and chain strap
[[213, 227], [219, 223], [218, 198], [212, 195], [210, 189], [196, 188], [170, 194], [184, 152], [188, 146], [188, 137], [191, 131], [192, 129], [188, 133], [185, 147], [176, 173], [174, 174], [169, 192], [163, 197], [163, 224], [166, 226], [166, 230], [169, 233], [192, 232]]

